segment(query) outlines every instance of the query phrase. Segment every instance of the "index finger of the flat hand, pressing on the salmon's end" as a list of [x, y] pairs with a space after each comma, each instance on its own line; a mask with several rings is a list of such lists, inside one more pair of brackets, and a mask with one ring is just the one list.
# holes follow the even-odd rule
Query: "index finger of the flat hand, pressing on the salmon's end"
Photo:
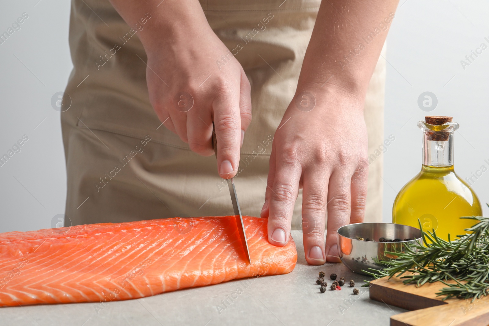
[[268, 214], [268, 241], [284, 246], [290, 237], [290, 223], [299, 192], [302, 168], [293, 157], [277, 157]]

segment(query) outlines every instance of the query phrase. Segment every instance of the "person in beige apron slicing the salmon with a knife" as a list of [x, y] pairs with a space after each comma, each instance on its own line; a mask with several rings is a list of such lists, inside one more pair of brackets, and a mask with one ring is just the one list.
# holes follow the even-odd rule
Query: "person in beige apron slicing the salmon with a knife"
[[367, 154], [397, 2], [72, 0], [67, 217], [231, 215], [235, 176], [272, 244], [302, 227], [308, 263], [339, 261], [336, 230], [381, 218], [381, 157]]

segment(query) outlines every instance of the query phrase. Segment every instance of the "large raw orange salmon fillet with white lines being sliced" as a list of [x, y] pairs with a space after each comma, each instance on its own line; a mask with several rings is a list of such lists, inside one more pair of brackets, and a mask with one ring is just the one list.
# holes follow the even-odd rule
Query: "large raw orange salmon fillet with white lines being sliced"
[[1, 233], [0, 306], [127, 300], [292, 271], [292, 238], [276, 247], [266, 218], [243, 220], [252, 264], [234, 216]]

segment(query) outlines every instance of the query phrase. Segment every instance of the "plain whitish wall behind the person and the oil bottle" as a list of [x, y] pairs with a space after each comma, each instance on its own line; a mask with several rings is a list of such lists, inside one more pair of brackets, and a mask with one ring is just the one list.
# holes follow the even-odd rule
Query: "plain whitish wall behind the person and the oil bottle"
[[[66, 169], [60, 113], [51, 96], [65, 89], [72, 68], [68, 49], [69, 1], [3, 1], [0, 33], [26, 12], [29, 18], [0, 44], [0, 156], [26, 134], [19, 153], [0, 167], [0, 232], [51, 227], [64, 213]], [[392, 202], [421, 167], [424, 91], [438, 106], [430, 115], [451, 115], [460, 124], [455, 169], [463, 178], [489, 169], [489, 49], [464, 70], [460, 61], [489, 42], [489, 3], [483, 0], [401, 0], [387, 41], [385, 138], [396, 137], [384, 156], [383, 220]], [[41, 123], [41, 124], [40, 124]], [[380, 145], [380, 144], [379, 144]], [[489, 202], [489, 172], [473, 184]], [[488, 215], [488, 208], [484, 213]]]

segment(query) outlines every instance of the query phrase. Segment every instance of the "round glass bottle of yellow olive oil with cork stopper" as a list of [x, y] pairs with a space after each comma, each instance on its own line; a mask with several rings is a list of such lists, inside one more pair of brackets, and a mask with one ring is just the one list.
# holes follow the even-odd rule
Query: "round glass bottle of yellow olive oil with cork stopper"
[[453, 137], [459, 128], [452, 117], [426, 116], [418, 122], [423, 131], [421, 172], [394, 200], [393, 223], [436, 231], [439, 238], [457, 239], [477, 221], [460, 218], [482, 216], [479, 199], [453, 169]]

